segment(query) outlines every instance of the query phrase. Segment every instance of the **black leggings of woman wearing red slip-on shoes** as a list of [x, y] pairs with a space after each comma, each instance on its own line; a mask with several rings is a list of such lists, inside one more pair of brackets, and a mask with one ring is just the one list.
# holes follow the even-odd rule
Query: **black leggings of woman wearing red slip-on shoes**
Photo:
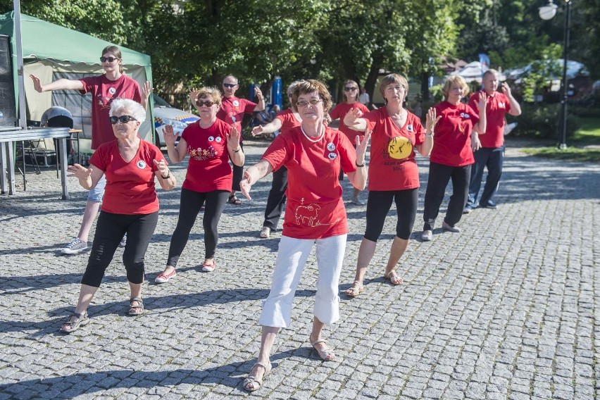
[[200, 212], [200, 207], [205, 201], [206, 208], [204, 210], [204, 218], [202, 218], [205, 258], [213, 258], [215, 256], [215, 249], [219, 240], [217, 225], [221, 218], [221, 213], [223, 213], [223, 208], [225, 208], [227, 196], [229, 196], [227, 190], [213, 190], [213, 192], [199, 193], [189, 189], [181, 189], [179, 219], [177, 220], [177, 227], [175, 227], [173, 237], [171, 237], [167, 265], [171, 265], [172, 267], [177, 266], [177, 261], [179, 261], [179, 257], [187, 244], [187, 239], [189, 239], [189, 232], [192, 231], [196, 217]]

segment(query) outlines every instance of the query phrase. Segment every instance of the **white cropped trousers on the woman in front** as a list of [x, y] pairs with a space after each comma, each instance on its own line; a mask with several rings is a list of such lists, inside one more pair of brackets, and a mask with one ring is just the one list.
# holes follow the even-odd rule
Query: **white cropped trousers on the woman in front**
[[317, 244], [319, 271], [314, 314], [326, 324], [339, 320], [339, 274], [342, 273], [347, 236], [344, 234], [325, 239], [282, 236], [273, 270], [273, 285], [268, 298], [263, 301], [263, 312], [258, 323], [270, 327], [289, 327], [296, 287], [314, 243]]

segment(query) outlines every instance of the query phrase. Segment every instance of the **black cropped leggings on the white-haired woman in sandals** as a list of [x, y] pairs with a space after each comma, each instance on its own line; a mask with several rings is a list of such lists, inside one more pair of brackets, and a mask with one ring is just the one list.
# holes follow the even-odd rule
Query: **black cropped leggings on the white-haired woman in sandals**
[[127, 280], [139, 284], [144, 282], [144, 256], [158, 223], [158, 211], [151, 214], [111, 214], [101, 211], [96, 223], [96, 234], [89, 254], [87, 268], [81, 283], [100, 287], [106, 268], [113, 261], [115, 251], [123, 235], [127, 233], [127, 245], [123, 251], [123, 264]]

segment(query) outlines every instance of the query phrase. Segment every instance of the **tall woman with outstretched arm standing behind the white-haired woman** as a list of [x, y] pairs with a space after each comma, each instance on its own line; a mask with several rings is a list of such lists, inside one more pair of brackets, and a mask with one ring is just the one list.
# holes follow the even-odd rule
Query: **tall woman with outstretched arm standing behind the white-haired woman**
[[[148, 96], [152, 91], [150, 82], [146, 82], [144, 89], [140, 92], [139, 84], [123, 74], [123, 58], [117, 46], [107, 46], [102, 50], [100, 62], [104, 69], [103, 75], [83, 77], [80, 80], [59, 79], [42, 85], [39, 77], [30, 75], [33, 85], [39, 93], [52, 90], [79, 90], [81, 94], [92, 94], [92, 150], [115, 139], [113, 128], [108, 120], [108, 111], [113, 100], [132, 99], [141, 103], [145, 110]], [[62, 254], [77, 254], [88, 248], [89, 230], [100, 209], [105, 185], [106, 179], [103, 177], [87, 194], [87, 203], [79, 233], [61, 250]], [[123, 242], [124, 245], [125, 242]]]

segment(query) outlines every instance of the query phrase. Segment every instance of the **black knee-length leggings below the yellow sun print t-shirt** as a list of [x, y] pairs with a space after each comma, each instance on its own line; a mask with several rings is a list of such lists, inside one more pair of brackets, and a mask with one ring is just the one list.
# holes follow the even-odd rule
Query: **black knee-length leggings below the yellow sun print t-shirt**
[[417, 216], [418, 188], [396, 191], [369, 191], [365, 239], [377, 242], [383, 230], [387, 212], [389, 208], [392, 208], [392, 200], [396, 201], [396, 214], [398, 215], [396, 236], [404, 240], [411, 237]]

